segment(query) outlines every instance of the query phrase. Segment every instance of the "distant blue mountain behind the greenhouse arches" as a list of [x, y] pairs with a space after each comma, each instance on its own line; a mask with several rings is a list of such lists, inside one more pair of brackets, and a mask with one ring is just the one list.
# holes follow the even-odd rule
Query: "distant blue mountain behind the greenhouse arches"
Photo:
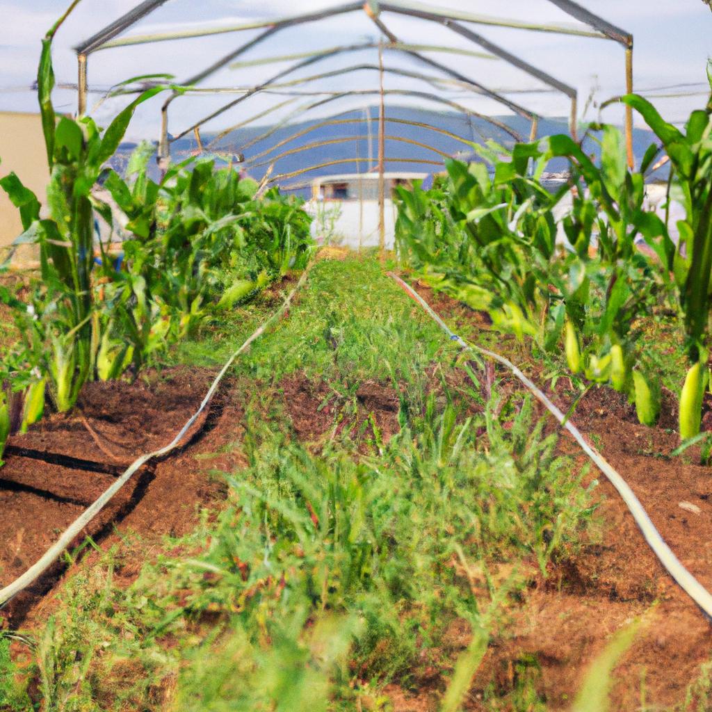
[[[230, 157], [243, 155], [242, 165], [255, 179], [261, 179], [273, 164], [272, 177], [283, 176], [278, 179], [283, 187], [304, 186], [318, 176], [366, 172], [375, 167], [378, 156], [378, 112], [376, 108], [370, 108], [372, 120], [369, 141], [369, 127], [367, 122], [363, 121], [366, 111], [345, 112], [340, 115], [339, 123], [334, 125], [325, 126], [323, 123], [326, 120], [315, 119], [288, 126], [244, 127], [219, 140], [215, 140], [216, 134], [202, 133], [201, 140], [204, 150], [220, 155], [225, 162], [229, 161]], [[528, 140], [530, 132], [529, 122], [519, 116], [493, 117], [492, 123], [483, 118], [467, 117], [455, 112], [434, 112], [406, 107], [389, 107], [386, 115], [387, 119], [390, 119], [386, 122], [387, 137], [406, 139], [430, 147], [387, 138], [385, 155], [388, 159], [394, 159], [387, 162], [387, 170], [395, 171], [437, 172], [441, 167], [427, 161], [435, 161], [441, 165], [444, 160], [442, 154], [454, 157], [471, 155], [472, 150], [466, 142], [483, 143], [487, 139], [493, 139], [511, 147], [515, 138], [496, 124], [506, 125], [523, 140]], [[539, 122], [539, 137], [567, 132], [567, 121], [564, 118], [544, 118]], [[461, 140], [451, 135], [460, 137]], [[638, 163], [653, 139], [654, 135], [648, 130], [634, 130], [633, 145]], [[322, 142], [329, 143], [313, 146]], [[117, 169], [125, 167], [127, 157], [134, 148], [135, 144], [123, 144], [120, 147], [115, 159]], [[184, 137], [172, 143], [172, 158], [182, 160], [197, 153], [197, 148], [194, 137]], [[587, 140], [584, 149], [589, 154], [598, 153], [595, 140]], [[355, 162], [355, 157], [360, 158], [360, 162]], [[398, 158], [410, 160], [399, 161]], [[236, 160], [233, 158], [234, 162]], [[302, 174], [290, 175], [306, 167], [315, 168]], [[563, 159], [555, 159], [550, 164], [552, 171], [561, 171], [565, 167], [566, 162]], [[158, 170], [155, 168], [155, 177], [157, 174]], [[308, 194], [308, 188], [303, 187], [298, 192]]]

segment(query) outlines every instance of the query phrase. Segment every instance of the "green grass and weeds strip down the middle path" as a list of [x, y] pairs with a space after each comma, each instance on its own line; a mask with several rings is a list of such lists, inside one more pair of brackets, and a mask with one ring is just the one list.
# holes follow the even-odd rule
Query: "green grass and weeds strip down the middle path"
[[[174, 357], [216, 365], [274, 308], [258, 301]], [[23, 674], [3, 676], [0, 647], [6, 708], [32, 708], [28, 681], [43, 709], [82, 712], [387, 710], [384, 685], [432, 687], [432, 670], [444, 691], [457, 669], [466, 692], [472, 632], [486, 642], [591, 509], [528, 399], [495, 385], [483, 401], [456, 359], [374, 260], [315, 265], [236, 366], [248, 466], [214, 473], [224, 509], [126, 589], [114, 572], [130, 540], [82, 567]], [[279, 388], [294, 374], [392, 384], [399, 433], [357, 456], [347, 439], [306, 449]], [[536, 667], [521, 666], [513, 696], [531, 707]]]

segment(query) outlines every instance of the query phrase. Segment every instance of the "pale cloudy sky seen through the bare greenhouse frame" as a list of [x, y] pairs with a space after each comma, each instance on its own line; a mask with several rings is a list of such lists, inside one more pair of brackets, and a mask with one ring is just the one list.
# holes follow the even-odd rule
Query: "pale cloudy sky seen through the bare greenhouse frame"
[[[140, 21], [127, 35], [157, 33], [194, 26], [230, 26], [249, 21], [276, 19], [303, 14], [340, 4], [341, 0], [168, 0], [150, 16]], [[412, 0], [416, 1], [416, 0]], [[424, 4], [426, 0], [419, 0]], [[558, 9], [549, 0], [427, 0], [438, 9], [455, 9], [473, 14], [511, 18], [518, 21], [559, 23], [582, 28], [581, 24]], [[30, 90], [36, 76], [36, 64], [41, 36], [62, 14], [68, 0], [0, 0], [0, 110], [36, 111], [36, 96]], [[138, 4], [138, 0], [82, 0], [62, 26], [54, 45], [53, 57], [59, 88], [54, 97], [58, 110], [73, 112], [75, 90], [62, 88], [76, 82], [76, 60], [72, 50], [78, 42], [98, 31], [110, 21]], [[588, 0], [587, 9], [629, 31], [634, 36], [634, 88], [659, 107], [669, 120], [684, 121], [693, 108], [706, 99], [706, 61], [712, 55], [712, 12], [701, 0]], [[401, 41], [419, 45], [437, 45], [459, 50], [479, 51], [465, 38], [434, 23], [384, 12], [382, 20]], [[624, 93], [624, 50], [619, 44], [599, 38], [582, 38], [555, 33], [527, 32], [519, 29], [466, 23], [489, 41], [518, 54], [533, 66], [545, 70], [558, 80], [578, 90], [580, 120], [602, 118], [620, 122], [622, 112], [613, 105], [599, 114], [602, 101]], [[216, 58], [234, 51], [258, 35], [257, 30], [222, 33], [204, 38], [168, 41], [130, 48], [112, 48], [89, 57], [88, 75], [90, 112], [100, 125], [106, 125], [125, 99], [102, 101], [103, 93], [116, 83], [137, 75], [169, 73], [178, 82], [204, 69]], [[246, 51], [243, 64], [224, 68], [204, 80], [205, 88], [245, 90], [263, 83], [281, 70], [290, 68], [294, 59], [271, 64], [254, 61], [317, 51], [335, 46], [375, 43], [379, 31], [362, 11], [340, 15], [318, 23], [309, 23], [276, 33], [263, 43]], [[447, 69], [496, 90], [512, 103], [542, 115], [565, 116], [570, 104], [564, 95], [546, 89], [506, 62], [492, 58], [456, 53], [422, 51]], [[324, 71], [339, 72], [331, 78], [311, 80], [277, 88], [276, 93], [256, 93], [244, 98], [231, 110], [206, 124], [206, 130], [252, 120], [258, 125], [286, 120], [296, 110], [305, 110], [319, 98], [345, 90], [375, 92], [379, 76], [372, 69], [349, 70], [355, 65], [375, 66], [376, 48], [342, 53], [328, 61], [293, 71], [282, 82], [307, 78]], [[436, 93], [466, 108], [493, 115], [510, 111], [505, 105], [473, 93], [471, 86], [442, 83], [446, 73], [397, 51], [384, 53], [387, 91], [417, 90]], [[343, 71], [340, 71], [343, 70]], [[404, 76], [417, 73], [426, 78]], [[433, 85], [433, 82], [436, 82]], [[679, 85], [684, 85], [679, 87]], [[435, 86], [435, 88], [434, 88]], [[676, 87], [673, 90], [669, 87]], [[683, 90], [692, 93], [684, 97], [669, 94]], [[295, 92], [323, 92], [312, 97]], [[291, 94], [285, 94], [290, 92]], [[241, 95], [201, 93], [177, 98], [169, 113], [172, 135], [189, 128], [192, 123], [234, 101]], [[310, 108], [303, 117], [332, 115], [352, 108], [375, 105], [377, 95], [360, 94], [352, 98], [333, 100], [319, 108]], [[137, 112], [129, 137], [157, 138], [161, 98], [152, 100]], [[387, 103], [444, 108], [422, 96], [387, 95]], [[284, 104], [282, 108], [273, 109]], [[272, 110], [271, 110], [272, 109]], [[270, 111], [271, 110], [271, 111]], [[267, 112], [263, 117], [257, 117]]]

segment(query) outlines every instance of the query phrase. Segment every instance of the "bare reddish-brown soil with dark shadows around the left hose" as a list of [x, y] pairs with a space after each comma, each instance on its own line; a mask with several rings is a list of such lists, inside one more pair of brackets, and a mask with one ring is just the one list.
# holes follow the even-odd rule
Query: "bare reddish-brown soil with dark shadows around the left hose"
[[[109, 473], [62, 464], [56, 455], [100, 462], [109, 472], [123, 468], [173, 439], [197, 409], [212, 377], [211, 372], [181, 369], [152, 374], [147, 382], [88, 384], [73, 413], [48, 415], [28, 434], [11, 436], [10, 454], [0, 469], [0, 540], [6, 542], [0, 549], [0, 587], [33, 564], [114, 481]], [[241, 415], [231, 389], [224, 387], [184, 444], [137, 472], [75, 543], [85, 535], [110, 541], [119, 525], [141, 535], [145, 547], [163, 535], [187, 533], [199, 506], [221, 497], [221, 485], [211, 480], [209, 469], [231, 470], [239, 464], [239, 455], [230, 452], [217, 459], [199, 455], [219, 452], [236, 439]], [[13, 454], [14, 448], [46, 453], [55, 462]], [[143, 553], [137, 552], [137, 558]], [[54, 566], [12, 600], [3, 610], [6, 623], [20, 627], [62, 572], [63, 565]], [[46, 604], [51, 605], [49, 599], [33, 610], [33, 617], [41, 618]]]

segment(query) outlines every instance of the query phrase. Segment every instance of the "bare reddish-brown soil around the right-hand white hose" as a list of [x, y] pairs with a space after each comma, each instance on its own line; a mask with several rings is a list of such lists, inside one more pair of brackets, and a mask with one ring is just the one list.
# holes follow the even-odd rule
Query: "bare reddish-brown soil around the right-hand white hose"
[[[487, 328], [484, 315], [426, 288], [419, 292], [449, 323], [467, 320]], [[538, 365], [527, 370], [536, 375]], [[498, 378], [508, 375], [498, 369]], [[566, 412], [571, 397], [556, 399]], [[600, 388], [582, 398], [572, 422], [626, 479], [681, 562], [712, 590], [712, 470], [690, 464], [696, 456], [692, 449], [687, 457], [670, 456], [679, 444], [675, 409], [672, 394], [664, 394], [659, 426], [648, 428], [638, 424], [625, 397]], [[569, 436], [562, 436], [561, 449], [580, 465], [587, 461]], [[481, 700], [488, 687], [500, 694], [515, 689], [518, 661], [531, 659], [540, 667], [537, 689], [547, 708], [570, 708], [588, 664], [611, 634], [654, 602], [647, 624], [614, 671], [612, 711], [639, 709], [642, 688], [649, 709], [681, 704], [700, 665], [712, 659], [710, 622], [666, 574], [613, 486], [595, 468], [586, 483], [594, 478], [600, 483], [594, 494], [600, 535], [550, 565], [547, 578], [535, 580], [523, 606], [493, 639], [468, 708], [487, 708]], [[395, 709], [421, 708], [410, 700]]]

